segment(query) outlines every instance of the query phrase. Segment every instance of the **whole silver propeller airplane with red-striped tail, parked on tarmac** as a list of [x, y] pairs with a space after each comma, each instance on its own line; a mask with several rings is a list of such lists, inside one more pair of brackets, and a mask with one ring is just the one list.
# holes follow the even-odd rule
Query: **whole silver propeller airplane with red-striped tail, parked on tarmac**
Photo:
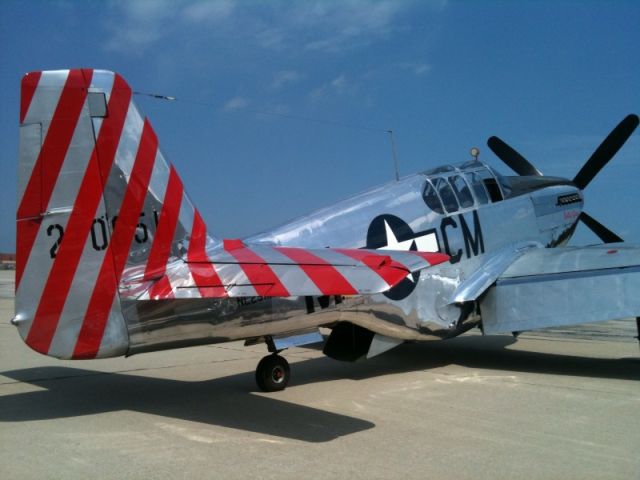
[[64, 359], [244, 339], [271, 355], [323, 340], [342, 360], [404, 341], [640, 316], [640, 248], [563, 247], [583, 190], [629, 138], [626, 117], [573, 180], [496, 137], [518, 176], [472, 161], [404, 177], [244, 240], [211, 236], [118, 74], [22, 80], [16, 314], [34, 350]]

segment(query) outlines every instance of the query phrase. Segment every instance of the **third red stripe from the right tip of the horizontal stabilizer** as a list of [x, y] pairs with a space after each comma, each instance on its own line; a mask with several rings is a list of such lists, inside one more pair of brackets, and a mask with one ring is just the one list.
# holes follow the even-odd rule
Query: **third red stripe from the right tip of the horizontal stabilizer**
[[326, 260], [300, 248], [276, 247], [296, 262], [323, 295], [356, 295], [358, 291]]

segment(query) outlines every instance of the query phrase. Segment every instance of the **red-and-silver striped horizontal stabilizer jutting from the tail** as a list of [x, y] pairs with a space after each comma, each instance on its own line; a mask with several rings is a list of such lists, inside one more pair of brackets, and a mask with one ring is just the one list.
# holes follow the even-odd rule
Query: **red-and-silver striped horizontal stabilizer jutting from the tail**
[[156, 277], [125, 280], [121, 295], [140, 299], [371, 295], [412, 272], [445, 262], [440, 253], [224, 245], [170, 263]]

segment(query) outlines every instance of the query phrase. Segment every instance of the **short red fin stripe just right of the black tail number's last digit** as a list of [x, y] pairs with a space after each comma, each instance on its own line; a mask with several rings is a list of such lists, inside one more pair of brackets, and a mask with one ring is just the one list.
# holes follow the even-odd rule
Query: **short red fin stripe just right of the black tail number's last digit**
[[[175, 168], [171, 165], [167, 190], [164, 194], [164, 201], [162, 202], [162, 211], [158, 219], [158, 227], [144, 271], [145, 280], [164, 277], [167, 260], [169, 260], [169, 255], [171, 254], [171, 243], [173, 242], [176, 225], [178, 224], [182, 193], [182, 182]], [[156, 297], [165, 286], [166, 285], [161, 285], [159, 282], [153, 284], [149, 295], [152, 298]]]

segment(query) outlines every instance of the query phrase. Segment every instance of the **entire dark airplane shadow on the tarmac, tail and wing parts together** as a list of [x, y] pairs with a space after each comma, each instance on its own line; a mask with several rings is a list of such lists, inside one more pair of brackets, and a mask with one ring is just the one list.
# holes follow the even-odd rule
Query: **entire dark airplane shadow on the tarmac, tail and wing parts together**
[[[292, 386], [336, 379], [365, 380], [450, 364], [469, 368], [552, 375], [640, 380], [635, 359], [598, 359], [508, 350], [510, 337], [460, 338], [404, 345], [363, 363], [328, 358], [293, 365]], [[67, 367], [2, 372], [44, 390], [0, 397], [0, 422], [76, 417], [119, 410], [140, 411], [307, 442], [327, 442], [375, 427], [347, 415], [256, 395], [253, 372], [191, 382], [104, 373]], [[354, 391], [354, 395], [356, 395]]]

